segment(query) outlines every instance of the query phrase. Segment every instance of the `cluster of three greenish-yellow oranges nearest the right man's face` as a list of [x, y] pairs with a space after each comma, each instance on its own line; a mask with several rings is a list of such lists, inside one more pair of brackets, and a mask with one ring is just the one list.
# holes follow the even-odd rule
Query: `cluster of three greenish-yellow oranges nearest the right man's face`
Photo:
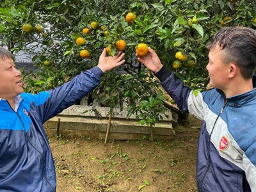
[[175, 58], [177, 60], [173, 61], [172, 67], [175, 69], [179, 69], [182, 67], [182, 63], [184, 63], [184, 67], [187, 68], [195, 68], [195, 61], [188, 60], [188, 56], [184, 54], [182, 51], [178, 51], [175, 54]]

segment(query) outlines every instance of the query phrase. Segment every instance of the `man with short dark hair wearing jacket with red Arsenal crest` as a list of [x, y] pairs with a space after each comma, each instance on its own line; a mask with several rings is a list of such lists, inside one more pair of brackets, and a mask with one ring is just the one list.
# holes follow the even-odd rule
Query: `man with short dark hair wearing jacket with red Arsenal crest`
[[148, 49], [138, 60], [154, 72], [180, 109], [202, 119], [198, 191], [256, 191], [256, 31], [222, 28], [209, 45], [211, 90], [198, 93], [164, 67]]

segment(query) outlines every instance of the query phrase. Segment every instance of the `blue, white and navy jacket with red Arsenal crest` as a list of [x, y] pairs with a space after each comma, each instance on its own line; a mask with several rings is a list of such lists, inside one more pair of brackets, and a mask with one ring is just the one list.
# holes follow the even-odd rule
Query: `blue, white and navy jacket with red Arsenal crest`
[[198, 191], [255, 192], [256, 88], [227, 99], [215, 88], [195, 96], [165, 67], [155, 76], [180, 109], [202, 119], [196, 162]]

